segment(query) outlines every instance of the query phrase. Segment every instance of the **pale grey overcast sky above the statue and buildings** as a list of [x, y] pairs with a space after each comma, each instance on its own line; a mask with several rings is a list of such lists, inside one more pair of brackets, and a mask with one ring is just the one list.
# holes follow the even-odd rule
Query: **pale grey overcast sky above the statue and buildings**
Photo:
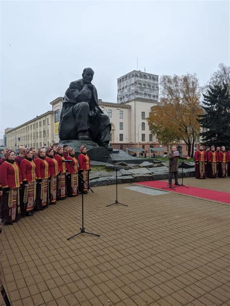
[[99, 98], [116, 102], [137, 56], [142, 71], [196, 73], [201, 85], [229, 64], [228, 1], [0, 2], [0, 132], [50, 110], [84, 67]]

